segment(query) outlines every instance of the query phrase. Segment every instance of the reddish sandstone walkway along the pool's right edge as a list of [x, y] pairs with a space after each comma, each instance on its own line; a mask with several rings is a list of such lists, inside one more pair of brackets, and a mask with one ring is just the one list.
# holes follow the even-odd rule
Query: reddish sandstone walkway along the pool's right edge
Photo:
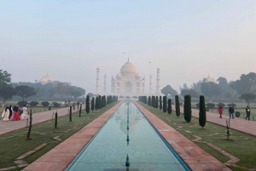
[[206, 171], [206, 170], [219, 170], [230, 171], [231, 169], [219, 162], [216, 158], [212, 157], [207, 151], [202, 150], [194, 142], [179, 134], [174, 128], [160, 120], [153, 113], [148, 111], [143, 105], [135, 102], [135, 105], [143, 112], [148, 118], [148, 121], [154, 125], [163, 138], [172, 146], [177, 155], [189, 166], [191, 170]]

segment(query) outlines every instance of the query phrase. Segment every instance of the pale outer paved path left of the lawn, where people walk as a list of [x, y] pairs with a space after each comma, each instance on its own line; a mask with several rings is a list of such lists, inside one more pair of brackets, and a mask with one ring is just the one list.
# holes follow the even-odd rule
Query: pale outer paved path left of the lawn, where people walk
[[[84, 109], [84, 108], [82, 108]], [[69, 107], [58, 109], [58, 117], [62, 117], [67, 115]], [[78, 109], [76, 108], [73, 112], [77, 112]], [[52, 114], [55, 110], [52, 111], [44, 111], [39, 113], [32, 114], [32, 124], [42, 123], [44, 121], [48, 121], [52, 119]], [[28, 116], [29, 117], [29, 116]], [[3, 121], [0, 120], [0, 135], [7, 134], [9, 132], [18, 130], [20, 128], [26, 128], [26, 120], [24, 121]]]

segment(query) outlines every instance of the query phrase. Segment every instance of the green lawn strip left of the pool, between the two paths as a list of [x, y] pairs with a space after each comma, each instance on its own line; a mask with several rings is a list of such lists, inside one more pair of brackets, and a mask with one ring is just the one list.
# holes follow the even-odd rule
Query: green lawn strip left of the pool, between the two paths
[[[43, 156], [47, 151], [53, 149], [56, 145], [59, 145], [62, 142], [54, 140], [53, 138], [55, 136], [60, 136], [59, 138], [61, 140], [66, 140], [68, 137], [78, 132], [81, 128], [84, 128], [85, 125], [93, 121], [96, 117], [102, 115], [103, 112], [108, 111], [108, 109], [116, 104], [117, 102], [114, 102], [101, 110], [93, 112], [90, 111], [89, 114], [86, 114], [83, 110], [81, 117], [79, 117], [79, 113], [73, 113], [72, 122], [69, 122], [68, 116], [59, 117], [58, 128], [54, 128], [55, 120], [50, 120], [48, 122], [32, 126], [32, 140], [26, 140], [27, 128], [22, 128], [19, 131], [0, 136], [0, 168], [16, 166], [15, 162], [13, 162], [15, 158], [20, 157], [27, 151], [32, 151], [32, 149], [42, 145], [43, 143], [47, 143], [47, 145], [41, 150], [24, 158], [24, 161], [27, 163], [35, 161], [38, 157]], [[14, 137], [3, 139], [10, 136]], [[21, 168], [16, 170], [21, 170]]]

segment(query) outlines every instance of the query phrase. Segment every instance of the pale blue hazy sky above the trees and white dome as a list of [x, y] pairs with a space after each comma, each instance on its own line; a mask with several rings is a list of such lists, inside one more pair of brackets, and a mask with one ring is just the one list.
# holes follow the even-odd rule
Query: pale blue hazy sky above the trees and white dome
[[[125, 54], [124, 54], [125, 53]], [[256, 72], [256, 1], [0, 0], [0, 68], [12, 82], [49, 73], [96, 92], [130, 56], [161, 88]], [[149, 63], [151, 62], [151, 63]]]

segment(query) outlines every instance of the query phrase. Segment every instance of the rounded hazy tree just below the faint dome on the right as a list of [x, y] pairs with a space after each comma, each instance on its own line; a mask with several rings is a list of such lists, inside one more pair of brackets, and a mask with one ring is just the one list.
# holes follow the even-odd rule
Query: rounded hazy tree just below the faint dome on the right
[[201, 83], [201, 92], [207, 97], [212, 98], [218, 94], [221, 94], [222, 90], [217, 83]]

